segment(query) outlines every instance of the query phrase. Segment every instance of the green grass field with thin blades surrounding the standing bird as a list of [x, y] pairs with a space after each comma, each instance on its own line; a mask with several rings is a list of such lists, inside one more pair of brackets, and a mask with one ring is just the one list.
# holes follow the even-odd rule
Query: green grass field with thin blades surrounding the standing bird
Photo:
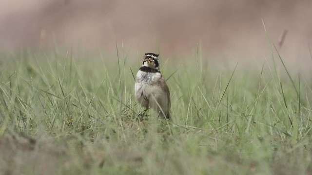
[[198, 47], [196, 61], [161, 59], [170, 122], [138, 122], [141, 58], [123, 50], [0, 55], [0, 172], [311, 175], [310, 79], [280, 56], [250, 69]]

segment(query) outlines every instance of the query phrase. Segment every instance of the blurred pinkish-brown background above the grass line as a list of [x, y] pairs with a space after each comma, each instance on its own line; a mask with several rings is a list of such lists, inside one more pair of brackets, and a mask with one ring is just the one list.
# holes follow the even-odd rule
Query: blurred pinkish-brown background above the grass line
[[[312, 0], [1, 0], [0, 51], [100, 48], [264, 58], [270, 40], [284, 58], [310, 59]], [[284, 31], [287, 35], [279, 48]]]

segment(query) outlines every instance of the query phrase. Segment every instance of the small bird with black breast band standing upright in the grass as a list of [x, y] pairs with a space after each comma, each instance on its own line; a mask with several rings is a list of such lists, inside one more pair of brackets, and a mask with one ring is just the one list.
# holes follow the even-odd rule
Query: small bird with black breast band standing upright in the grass
[[[162, 119], [170, 120], [170, 91], [159, 66], [159, 54], [145, 53], [142, 67], [137, 72], [135, 96], [145, 111], [152, 107]], [[144, 116], [144, 115], [143, 115]]]

